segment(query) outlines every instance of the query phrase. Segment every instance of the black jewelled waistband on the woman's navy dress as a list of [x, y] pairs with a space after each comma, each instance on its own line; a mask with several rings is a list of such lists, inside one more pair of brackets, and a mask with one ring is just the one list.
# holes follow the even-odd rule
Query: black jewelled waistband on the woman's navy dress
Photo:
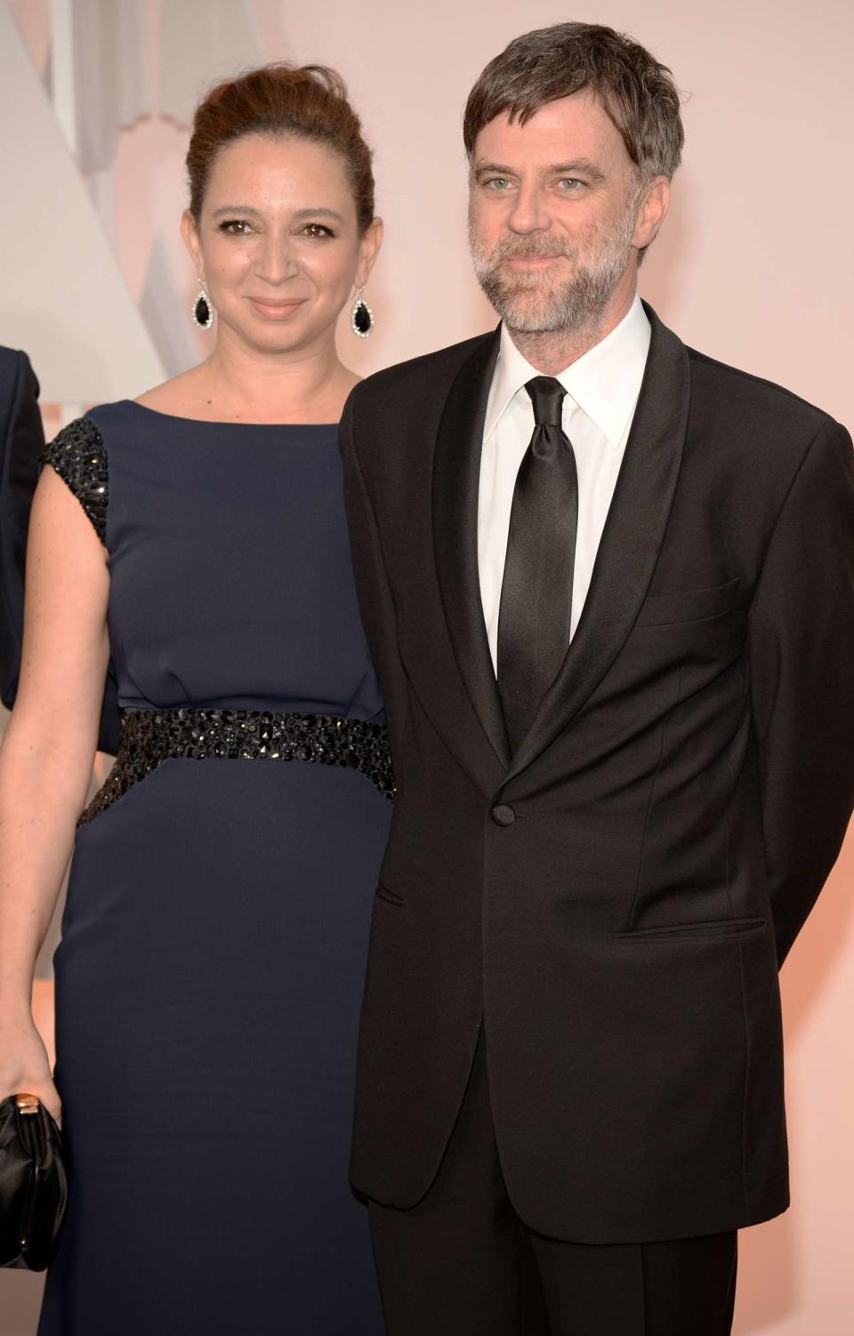
[[125, 709], [116, 764], [79, 824], [124, 798], [160, 762], [184, 758], [346, 766], [395, 796], [386, 724], [260, 709]]

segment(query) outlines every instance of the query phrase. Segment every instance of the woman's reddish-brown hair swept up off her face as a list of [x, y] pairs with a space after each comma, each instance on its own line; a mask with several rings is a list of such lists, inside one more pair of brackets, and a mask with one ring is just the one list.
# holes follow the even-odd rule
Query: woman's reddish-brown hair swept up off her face
[[347, 168], [359, 231], [367, 230], [374, 218], [371, 150], [334, 69], [283, 61], [211, 88], [196, 108], [187, 150], [189, 212], [196, 224], [218, 154], [244, 135], [296, 135], [335, 150]]

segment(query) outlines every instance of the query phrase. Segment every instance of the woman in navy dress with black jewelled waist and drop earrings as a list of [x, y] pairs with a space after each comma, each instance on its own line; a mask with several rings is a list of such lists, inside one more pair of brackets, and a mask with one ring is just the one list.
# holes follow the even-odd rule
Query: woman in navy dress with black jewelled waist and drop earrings
[[[347, 1157], [391, 776], [335, 323], [382, 224], [328, 69], [215, 88], [187, 163], [214, 351], [61, 432], [33, 505], [0, 766], [0, 1097], [59, 1114], [61, 1096], [40, 1336], [379, 1333]], [[108, 661], [121, 747], [75, 842]], [[55, 1089], [28, 999], [72, 842]]]

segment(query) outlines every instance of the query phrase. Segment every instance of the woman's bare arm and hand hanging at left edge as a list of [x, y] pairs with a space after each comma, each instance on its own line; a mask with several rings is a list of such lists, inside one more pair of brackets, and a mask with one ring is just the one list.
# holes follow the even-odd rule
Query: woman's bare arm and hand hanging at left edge
[[51, 468], [27, 548], [20, 687], [0, 747], [0, 1100], [59, 1113], [31, 1015], [32, 977], [89, 784], [109, 659], [107, 554]]

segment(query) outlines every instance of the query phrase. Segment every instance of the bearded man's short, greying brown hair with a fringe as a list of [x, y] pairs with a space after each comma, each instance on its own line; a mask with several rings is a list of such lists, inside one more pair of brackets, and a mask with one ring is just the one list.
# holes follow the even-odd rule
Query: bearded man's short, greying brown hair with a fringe
[[673, 75], [626, 33], [596, 23], [526, 32], [490, 60], [466, 103], [468, 158], [483, 127], [502, 112], [524, 126], [546, 103], [584, 88], [620, 132], [640, 180], [671, 178], [685, 143]]

